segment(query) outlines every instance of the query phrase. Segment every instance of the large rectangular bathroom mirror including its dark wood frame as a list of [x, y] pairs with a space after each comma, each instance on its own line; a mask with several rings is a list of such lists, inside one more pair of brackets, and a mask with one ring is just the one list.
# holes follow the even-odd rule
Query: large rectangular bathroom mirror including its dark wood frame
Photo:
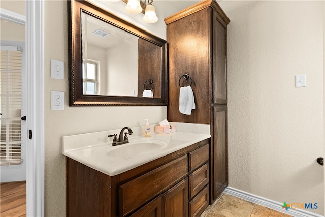
[[167, 105], [166, 41], [91, 2], [67, 2], [69, 105]]

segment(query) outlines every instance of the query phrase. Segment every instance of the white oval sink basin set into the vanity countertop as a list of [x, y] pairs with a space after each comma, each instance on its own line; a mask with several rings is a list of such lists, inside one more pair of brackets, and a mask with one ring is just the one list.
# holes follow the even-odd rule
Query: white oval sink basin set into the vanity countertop
[[107, 156], [131, 160], [135, 156], [147, 154], [167, 146], [167, 142], [155, 139], [137, 139], [129, 143], [117, 145], [106, 151]]

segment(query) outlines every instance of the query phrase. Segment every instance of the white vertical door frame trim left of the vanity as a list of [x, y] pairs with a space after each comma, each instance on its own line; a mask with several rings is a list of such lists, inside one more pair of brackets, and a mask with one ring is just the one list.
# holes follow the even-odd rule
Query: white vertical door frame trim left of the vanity
[[27, 216], [44, 216], [44, 1], [26, 3]]

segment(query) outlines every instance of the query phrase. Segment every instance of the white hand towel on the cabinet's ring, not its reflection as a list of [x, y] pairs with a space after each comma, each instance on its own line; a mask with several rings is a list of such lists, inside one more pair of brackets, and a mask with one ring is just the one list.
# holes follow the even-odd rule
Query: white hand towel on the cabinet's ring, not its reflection
[[195, 109], [194, 94], [191, 86], [181, 87], [179, 90], [179, 111], [190, 115]]

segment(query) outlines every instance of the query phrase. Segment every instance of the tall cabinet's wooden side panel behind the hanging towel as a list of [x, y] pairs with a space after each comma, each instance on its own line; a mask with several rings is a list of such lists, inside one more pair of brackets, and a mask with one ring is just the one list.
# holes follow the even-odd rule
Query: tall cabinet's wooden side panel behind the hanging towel
[[[173, 122], [205, 123], [211, 119], [210, 89], [210, 8], [167, 25], [169, 54], [168, 106], [167, 119]], [[188, 27], [190, 26], [190, 28]], [[179, 112], [180, 86], [187, 86], [190, 81], [181, 78], [189, 73], [192, 79], [196, 108], [191, 115]], [[180, 80], [181, 78], [181, 80]]]

